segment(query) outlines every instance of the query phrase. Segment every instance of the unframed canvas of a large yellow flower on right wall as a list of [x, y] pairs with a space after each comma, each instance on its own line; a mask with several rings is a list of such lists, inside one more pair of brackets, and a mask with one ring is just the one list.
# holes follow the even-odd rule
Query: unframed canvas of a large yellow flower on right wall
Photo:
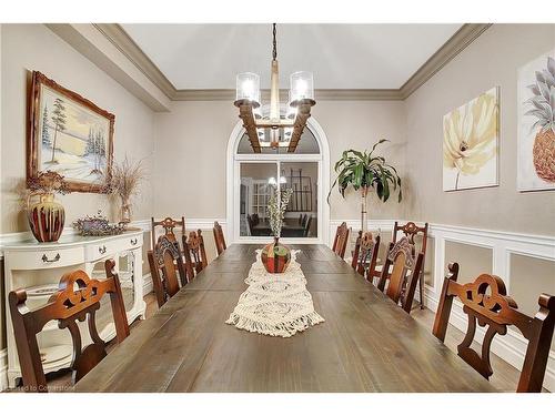
[[443, 116], [443, 190], [498, 185], [498, 88]]

